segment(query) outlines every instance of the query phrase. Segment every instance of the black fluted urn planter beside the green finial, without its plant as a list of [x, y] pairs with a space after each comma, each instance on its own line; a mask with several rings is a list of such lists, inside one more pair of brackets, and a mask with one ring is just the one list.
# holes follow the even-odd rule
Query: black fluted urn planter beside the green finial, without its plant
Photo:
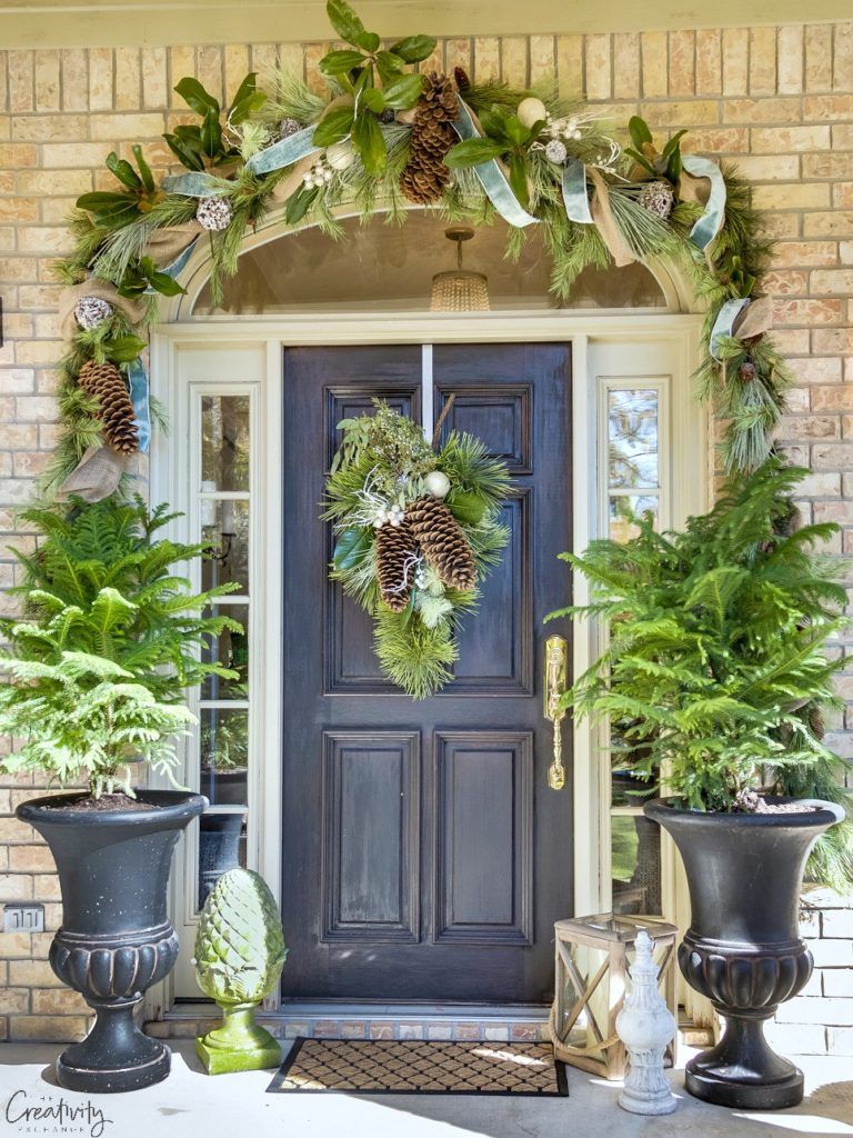
[[83, 797], [36, 798], [17, 809], [45, 839], [59, 874], [63, 925], [50, 946], [50, 965], [96, 1013], [86, 1038], [57, 1059], [57, 1079], [88, 1094], [138, 1090], [165, 1079], [172, 1064], [168, 1047], [140, 1031], [134, 1009], [177, 958], [166, 915], [172, 851], [207, 799], [139, 791], [139, 801], [156, 809], [58, 807]]

